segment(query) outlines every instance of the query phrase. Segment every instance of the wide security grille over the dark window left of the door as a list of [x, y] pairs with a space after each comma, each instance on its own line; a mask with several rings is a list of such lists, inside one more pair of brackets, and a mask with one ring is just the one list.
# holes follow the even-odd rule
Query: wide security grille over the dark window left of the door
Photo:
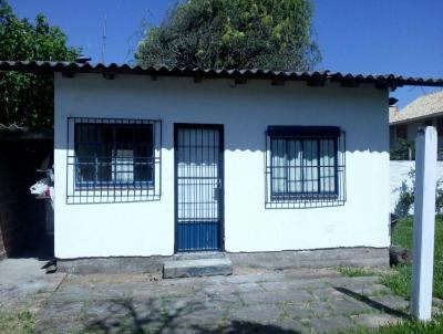
[[68, 118], [66, 202], [159, 200], [162, 121]]

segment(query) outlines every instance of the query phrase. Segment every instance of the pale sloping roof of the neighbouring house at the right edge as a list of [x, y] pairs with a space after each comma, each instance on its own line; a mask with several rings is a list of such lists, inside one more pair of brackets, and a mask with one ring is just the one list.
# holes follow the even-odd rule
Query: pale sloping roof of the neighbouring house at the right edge
[[420, 96], [401, 111], [390, 111], [389, 123], [404, 123], [439, 114], [443, 114], [443, 91]]

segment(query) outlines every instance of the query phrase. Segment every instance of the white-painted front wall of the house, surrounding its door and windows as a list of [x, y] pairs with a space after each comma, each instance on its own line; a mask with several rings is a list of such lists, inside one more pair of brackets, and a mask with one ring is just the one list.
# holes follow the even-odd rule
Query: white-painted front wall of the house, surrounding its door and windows
[[[55, 255], [174, 252], [174, 123], [225, 127], [225, 248], [230, 252], [389, 246], [388, 92], [372, 85], [99, 74], [55, 75]], [[159, 201], [66, 205], [66, 118], [163, 121]], [[347, 201], [340, 207], [265, 208], [268, 125], [346, 131]]]

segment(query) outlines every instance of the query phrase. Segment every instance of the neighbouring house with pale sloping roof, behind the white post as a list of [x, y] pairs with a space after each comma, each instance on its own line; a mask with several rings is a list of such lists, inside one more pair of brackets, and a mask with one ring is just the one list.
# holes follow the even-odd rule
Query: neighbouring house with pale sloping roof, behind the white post
[[423, 95], [401, 111], [390, 107], [389, 112], [392, 148], [398, 147], [399, 139], [413, 143], [419, 127], [432, 125], [439, 133], [439, 160], [443, 159], [443, 91]]

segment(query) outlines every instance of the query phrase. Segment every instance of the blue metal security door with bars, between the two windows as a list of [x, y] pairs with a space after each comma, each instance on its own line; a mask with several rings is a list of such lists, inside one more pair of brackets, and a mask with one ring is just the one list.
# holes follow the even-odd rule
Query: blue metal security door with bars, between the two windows
[[175, 251], [223, 249], [223, 126], [175, 124]]

